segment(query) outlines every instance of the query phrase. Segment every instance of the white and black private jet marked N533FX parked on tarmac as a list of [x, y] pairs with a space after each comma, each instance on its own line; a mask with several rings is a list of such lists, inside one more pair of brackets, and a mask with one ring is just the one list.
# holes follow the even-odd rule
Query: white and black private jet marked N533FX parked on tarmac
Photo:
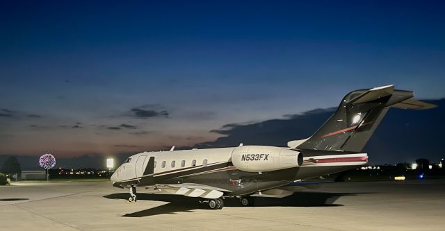
[[394, 85], [346, 94], [330, 119], [307, 139], [287, 147], [240, 144], [228, 148], [143, 152], [129, 157], [111, 176], [113, 186], [148, 193], [202, 198], [221, 209], [236, 197], [253, 206], [257, 196], [284, 197], [311, 184], [307, 180], [368, 163], [362, 152], [389, 108], [423, 110], [435, 105], [412, 99], [414, 93]]

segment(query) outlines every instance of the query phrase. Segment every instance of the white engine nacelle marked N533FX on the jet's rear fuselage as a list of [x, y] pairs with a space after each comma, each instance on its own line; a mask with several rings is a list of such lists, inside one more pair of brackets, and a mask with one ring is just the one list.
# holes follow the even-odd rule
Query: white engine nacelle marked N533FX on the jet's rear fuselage
[[275, 171], [301, 166], [303, 155], [274, 146], [239, 146], [232, 153], [232, 163], [241, 171]]

